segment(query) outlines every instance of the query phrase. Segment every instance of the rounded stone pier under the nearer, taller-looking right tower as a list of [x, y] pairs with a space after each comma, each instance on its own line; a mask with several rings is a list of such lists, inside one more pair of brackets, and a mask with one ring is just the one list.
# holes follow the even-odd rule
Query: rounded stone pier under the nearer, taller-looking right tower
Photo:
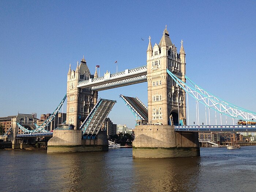
[[200, 156], [198, 133], [176, 132], [172, 125], [138, 125], [132, 142], [135, 159]]

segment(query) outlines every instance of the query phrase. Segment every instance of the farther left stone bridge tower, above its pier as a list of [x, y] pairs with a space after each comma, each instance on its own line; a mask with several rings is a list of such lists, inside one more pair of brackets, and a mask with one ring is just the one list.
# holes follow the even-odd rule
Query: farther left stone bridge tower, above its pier
[[77, 88], [79, 81], [97, 77], [97, 71], [91, 75], [90, 70], [83, 59], [80, 65], [77, 62], [76, 70], [69, 71], [67, 75], [67, 124], [74, 125], [74, 129], [79, 129], [85, 118], [93, 109], [98, 99], [98, 91], [91, 91], [90, 88]]

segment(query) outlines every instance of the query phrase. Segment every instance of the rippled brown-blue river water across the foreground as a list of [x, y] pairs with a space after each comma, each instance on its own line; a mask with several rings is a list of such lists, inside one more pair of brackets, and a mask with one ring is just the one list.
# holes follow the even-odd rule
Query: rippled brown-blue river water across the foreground
[[201, 157], [132, 159], [132, 148], [98, 153], [0, 151], [0, 191], [256, 191], [256, 146], [200, 148]]

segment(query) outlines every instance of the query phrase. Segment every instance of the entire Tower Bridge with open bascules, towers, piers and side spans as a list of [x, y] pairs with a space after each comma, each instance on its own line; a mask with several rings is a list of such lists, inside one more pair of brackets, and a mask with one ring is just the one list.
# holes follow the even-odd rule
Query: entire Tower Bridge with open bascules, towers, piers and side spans
[[[256, 122], [256, 113], [233, 105], [210, 94], [198, 86], [186, 73], [186, 54], [181, 41], [180, 52], [169, 37], [165, 27], [159, 44], [147, 48], [147, 65], [111, 74], [106, 71], [98, 77], [97, 68], [92, 75], [86, 60], [77, 63], [76, 70], [67, 75], [67, 95], [53, 114], [35, 128], [25, 128], [15, 123], [13, 143], [20, 138], [52, 136], [48, 141], [48, 153], [107, 151], [108, 140], [103, 123], [116, 101], [98, 99], [98, 91], [147, 82], [148, 105], [139, 98], [120, 95], [136, 118], [133, 158], [173, 158], [200, 155], [197, 132], [209, 131], [256, 131], [256, 123], [234, 125], [234, 119]], [[189, 124], [188, 95], [196, 100], [196, 125]], [[67, 97], [66, 124], [71, 129], [46, 127], [54, 120]], [[208, 109], [208, 123], [199, 125], [199, 103]], [[211, 125], [210, 109], [220, 114], [221, 125]], [[233, 125], [222, 125], [222, 115], [233, 118]], [[254, 119], [254, 120], [253, 120]], [[226, 120], [227, 121], [227, 120]], [[63, 122], [61, 122], [63, 123]], [[227, 123], [226, 123], [227, 124]], [[72, 130], [74, 128], [74, 130]], [[13, 145], [15, 146], [15, 145]]]

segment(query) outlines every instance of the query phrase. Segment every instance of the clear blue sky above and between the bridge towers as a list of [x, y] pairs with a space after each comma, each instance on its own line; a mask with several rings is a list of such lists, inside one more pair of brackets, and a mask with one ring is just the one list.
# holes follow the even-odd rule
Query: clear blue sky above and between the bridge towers
[[[167, 25], [204, 89], [256, 111], [256, 1], [0, 1], [0, 116], [52, 113], [66, 93], [69, 63], [92, 74], [146, 64], [148, 36]], [[144, 41], [141, 38], [145, 39]], [[147, 83], [99, 92], [116, 100], [109, 117], [133, 128], [120, 94], [147, 104]], [[64, 111], [66, 106], [64, 106]], [[194, 113], [191, 112], [191, 119]]]

